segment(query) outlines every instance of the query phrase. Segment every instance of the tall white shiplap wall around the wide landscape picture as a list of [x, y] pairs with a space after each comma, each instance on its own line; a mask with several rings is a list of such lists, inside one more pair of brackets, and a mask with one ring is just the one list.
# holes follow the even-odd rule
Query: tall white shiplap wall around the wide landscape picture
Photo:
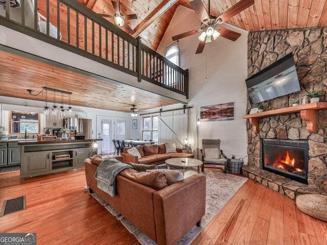
[[[157, 52], [165, 55], [165, 48], [173, 43], [171, 37], [200, 27], [200, 20], [193, 10], [179, 6], [162, 39]], [[247, 32], [228, 24], [223, 27], [241, 33], [233, 42], [223, 37], [206, 44], [202, 54], [195, 54], [198, 34], [178, 41], [180, 66], [189, 69], [190, 96], [189, 142], [193, 150], [199, 149], [203, 138], [221, 139], [221, 149], [229, 157], [247, 155], [246, 111], [247, 78]], [[205, 79], [207, 78], [207, 79]], [[223, 103], [234, 103], [234, 120], [201, 122], [197, 137], [196, 121], [200, 117], [200, 107]], [[245, 159], [245, 163], [247, 158]]]

